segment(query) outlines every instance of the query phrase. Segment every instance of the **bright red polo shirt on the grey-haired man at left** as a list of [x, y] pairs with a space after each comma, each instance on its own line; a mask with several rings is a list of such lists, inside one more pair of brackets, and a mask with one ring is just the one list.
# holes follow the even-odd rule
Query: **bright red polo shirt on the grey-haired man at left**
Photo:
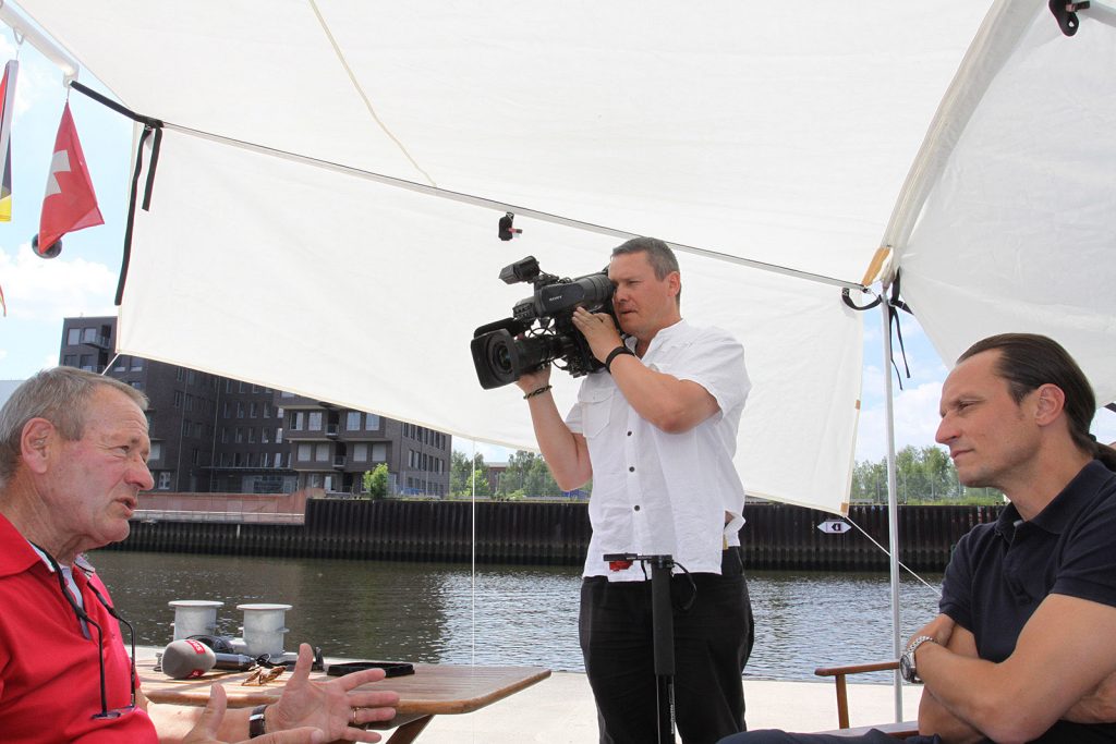
[[155, 726], [135, 708], [117, 718], [100, 712], [99, 653], [105, 660], [108, 708], [131, 703], [131, 665], [119, 626], [89, 588], [108, 590], [81, 562], [74, 580], [86, 613], [104, 632], [89, 638], [61, 595], [58, 578], [27, 540], [0, 515], [0, 740], [58, 744], [154, 744]]

